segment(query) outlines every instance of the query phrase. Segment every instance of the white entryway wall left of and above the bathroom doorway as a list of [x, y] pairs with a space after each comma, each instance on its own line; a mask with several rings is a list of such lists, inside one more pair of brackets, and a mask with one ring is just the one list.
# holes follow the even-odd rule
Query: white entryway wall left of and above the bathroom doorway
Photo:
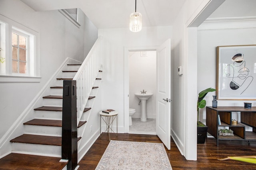
[[161, 45], [166, 39], [171, 38], [171, 33], [171, 26], [142, 27], [142, 31], [138, 33], [131, 32], [128, 27], [99, 29], [98, 34], [111, 44], [110, 58], [105, 58], [104, 63], [102, 108], [112, 108], [119, 112], [118, 132], [124, 132], [124, 121], [129, 121], [129, 110], [124, 110], [124, 105], [127, 105], [124, 103], [124, 98], [128, 98], [128, 94], [124, 96], [124, 65], [128, 67], [128, 63], [124, 63], [124, 47]]

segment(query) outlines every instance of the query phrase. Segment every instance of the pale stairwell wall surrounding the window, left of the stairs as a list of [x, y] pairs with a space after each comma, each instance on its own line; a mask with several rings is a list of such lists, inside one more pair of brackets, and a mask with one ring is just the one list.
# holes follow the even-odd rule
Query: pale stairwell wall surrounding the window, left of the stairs
[[[38, 32], [39, 83], [2, 83], [0, 76], [0, 158], [11, 152], [9, 130], [67, 57], [83, 61], [98, 29], [80, 14], [80, 28], [58, 10], [36, 12], [20, 0], [1, 0], [0, 15]], [[15, 78], [14, 78], [15, 79]], [[26, 115], [26, 113], [24, 113]], [[29, 120], [33, 115], [27, 115]], [[23, 122], [22, 122], [23, 123]], [[12, 133], [12, 132], [10, 132]], [[22, 134], [18, 129], [17, 134]]]

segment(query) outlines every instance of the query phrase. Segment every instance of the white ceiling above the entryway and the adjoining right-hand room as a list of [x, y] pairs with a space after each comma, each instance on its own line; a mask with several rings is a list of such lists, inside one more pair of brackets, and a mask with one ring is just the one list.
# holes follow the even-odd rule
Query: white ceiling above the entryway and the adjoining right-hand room
[[[36, 11], [80, 8], [98, 28], [129, 27], [135, 0], [21, 0]], [[173, 25], [186, 0], [137, 0], [142, 27]], [[209, 18], [256, 16], [256, 0], [226, 0]]]

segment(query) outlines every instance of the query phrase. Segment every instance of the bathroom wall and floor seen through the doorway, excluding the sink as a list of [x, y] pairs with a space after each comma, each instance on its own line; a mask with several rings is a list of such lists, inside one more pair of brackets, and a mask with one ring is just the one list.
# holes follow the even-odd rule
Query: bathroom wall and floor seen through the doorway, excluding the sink
[[[152, 93], [146, 100], [146, 121], [141, 121], [141, 102], [136, 93]], [[129, 107], [135, 109], [129, 133], [156, 135], [156, 51], [129, 52]]]

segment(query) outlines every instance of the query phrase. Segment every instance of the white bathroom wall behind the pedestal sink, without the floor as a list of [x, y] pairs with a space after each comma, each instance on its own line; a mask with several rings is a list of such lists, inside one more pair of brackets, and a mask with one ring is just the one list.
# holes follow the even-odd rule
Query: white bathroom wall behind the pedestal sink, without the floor
[[147, 91], [153, 93], [147, 100], [146, 112], [147, 118], [156, 118], [156, 51], [145, 51], [147, 57], [141, 57], [140, 51], [130, 52], [129, 57], [129, 106], [136, 109], [132, 116], [140, 118], [141, 105], [140, 100], [134, 95]]

